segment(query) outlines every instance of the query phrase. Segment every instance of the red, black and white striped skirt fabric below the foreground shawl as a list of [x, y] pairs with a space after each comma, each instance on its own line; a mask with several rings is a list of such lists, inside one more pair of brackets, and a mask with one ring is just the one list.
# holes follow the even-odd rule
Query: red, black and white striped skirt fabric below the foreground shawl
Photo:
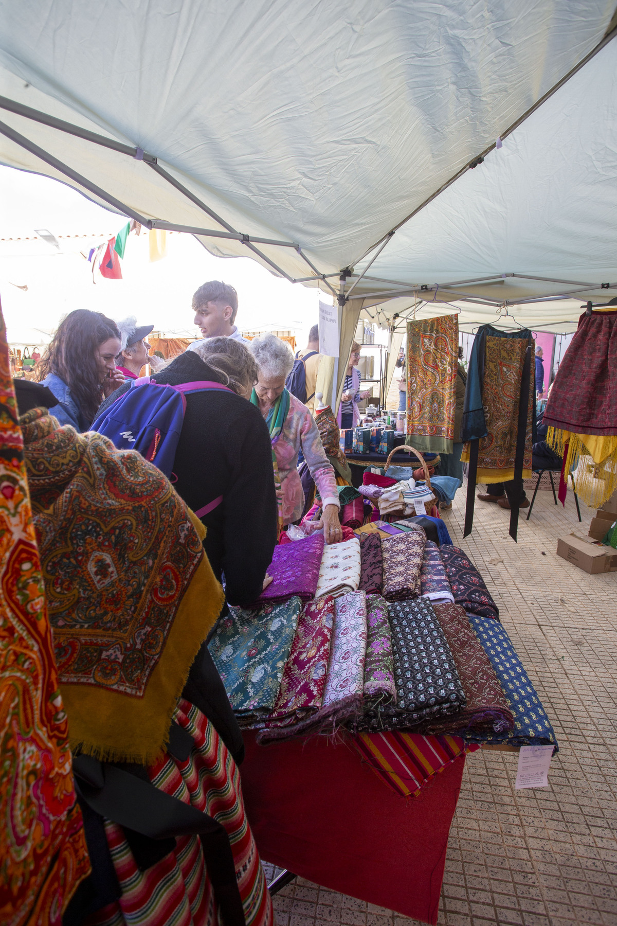
[[[197, 707], [180, 699], [175, 720], [194, 740], [185, 762], [168, 754], [150, 768], [150, 779], [214, 817], [228, 832], [246, 926], [274, 926], [264, 871], [244, 814], [240, 772], [227, 747]], [[122, 828], [105, 821], [107, 844], [122, 895], [88, 918], [88, 926], [219, 926], [220, 916], [197, 836], [180, 836], [160, 862], [140, 871]]]

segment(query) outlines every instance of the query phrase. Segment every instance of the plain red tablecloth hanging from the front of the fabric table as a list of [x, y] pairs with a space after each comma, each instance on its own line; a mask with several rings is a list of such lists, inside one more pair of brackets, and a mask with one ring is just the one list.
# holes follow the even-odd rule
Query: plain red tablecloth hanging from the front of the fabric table
[[258, 746], [244, 733], [248, 819], [261, 857], [309, 881], [436, 923], [464, 756], [419, 797], [396, 795], [350, 745]]

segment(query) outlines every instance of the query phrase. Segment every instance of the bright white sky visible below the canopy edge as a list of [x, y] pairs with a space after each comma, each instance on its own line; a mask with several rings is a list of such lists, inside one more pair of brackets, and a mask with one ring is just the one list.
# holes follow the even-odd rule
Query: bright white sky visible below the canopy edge
[[[277, 278], [249, 257], [213, 257], [188, 234], [168, 232], [167, 256], [151, 263], [148, 233], [132, 233], [123, 279], [97, 275], [93, 282], [90, 248], [125, 224], [64, 183], [0, 166], [0, 297], [10, 344], [46, 344], [75, 308], [116, 321], [135, 315], [170, 336], [200, 336], [191, 296], [207, 280], [236, 288], [241, 331], [292, 331], [305, 344], [317, 321], [317, 289]], [[35, 230], [51, 232], [59, 249]]]

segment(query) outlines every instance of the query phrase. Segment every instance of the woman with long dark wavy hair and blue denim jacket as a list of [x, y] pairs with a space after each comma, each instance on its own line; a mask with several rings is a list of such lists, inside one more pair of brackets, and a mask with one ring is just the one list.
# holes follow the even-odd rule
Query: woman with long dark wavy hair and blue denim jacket
[[60, 424], [88, 431], [101, 402], [124, 377], [116, 369], [120, 332], [102, 312], [78, 308], [62, 319], [40, 361], [39, 382], [56, 396], [49, 410]]

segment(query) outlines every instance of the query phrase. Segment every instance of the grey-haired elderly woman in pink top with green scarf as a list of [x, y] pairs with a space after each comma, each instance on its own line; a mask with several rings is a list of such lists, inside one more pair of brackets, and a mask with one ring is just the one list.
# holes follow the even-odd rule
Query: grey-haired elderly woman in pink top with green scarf
[[270, 431], [279, 524], [290, 524], [302, 516], [304, 493], [298, 474], [298, 451], [302, 449], [321, 496], [324, 513], [320, 526], [326, 543], [336, 544], [342, 540], [342, 530], [334, 469], [328, 462], [311, 412], [285, 388], [293, 354], [274, 334], [255, 338], [250, 349], [259, 368], [251, 401], [261, 411]]

